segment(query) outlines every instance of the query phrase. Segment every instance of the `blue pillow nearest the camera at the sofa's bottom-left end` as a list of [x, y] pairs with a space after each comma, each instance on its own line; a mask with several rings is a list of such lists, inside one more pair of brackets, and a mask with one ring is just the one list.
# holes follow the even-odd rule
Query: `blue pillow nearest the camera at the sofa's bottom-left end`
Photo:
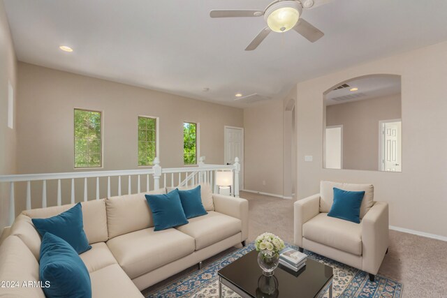
[[45, 232], [39, 264], [46, 297], [91, 298], [89, 271], [78, 252], [64, 239]]

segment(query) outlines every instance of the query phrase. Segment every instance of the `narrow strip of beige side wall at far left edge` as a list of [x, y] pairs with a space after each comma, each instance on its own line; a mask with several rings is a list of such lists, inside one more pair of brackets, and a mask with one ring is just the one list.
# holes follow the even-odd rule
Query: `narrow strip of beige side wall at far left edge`
[[[17, 126], [14, 125], [13, 129], [8, 128], [8, 81], [13, 86], [14, 91], [17, 91], [16, 68], [17, 61], [13, 40], [10, 35], [3, 1], [0, 1], [0, 175], [15, 174]], [[0, 184], [0, 229], [9, 223], [8, 193], [9, 186]]]

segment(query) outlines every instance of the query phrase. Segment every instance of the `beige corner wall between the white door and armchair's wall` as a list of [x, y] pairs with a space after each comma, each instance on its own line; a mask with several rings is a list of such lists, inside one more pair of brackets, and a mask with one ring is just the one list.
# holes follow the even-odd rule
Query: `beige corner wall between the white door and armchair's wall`
[[286, 106], [295, 98], [294, 87], [284, 100], [258, 103], [244, 109], [245, 190], [291, 197], [294, 189], [291, 177], [296, 169], [284, 165], [296, 164], [292, 156], [295, 148], [291, 146], [295, 140], [293, 129], [284, 128], [292, 121], [291, 117], [286, 117]]

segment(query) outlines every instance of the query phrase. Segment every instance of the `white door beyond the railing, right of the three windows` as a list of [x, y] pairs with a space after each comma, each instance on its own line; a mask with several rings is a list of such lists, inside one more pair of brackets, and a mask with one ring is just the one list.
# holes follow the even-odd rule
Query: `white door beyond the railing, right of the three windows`
[[225, 126], [225, 163], [233, 165], [240, 160], [239, 189], [244, 189], [244, 128]]

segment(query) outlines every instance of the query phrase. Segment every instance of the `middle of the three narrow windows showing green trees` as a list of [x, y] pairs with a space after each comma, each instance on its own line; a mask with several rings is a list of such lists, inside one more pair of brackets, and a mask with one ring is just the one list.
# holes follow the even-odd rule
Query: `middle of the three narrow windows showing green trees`
[[156, 118], [138, 116], [138, 165], [154, 164], [156, 157]]

